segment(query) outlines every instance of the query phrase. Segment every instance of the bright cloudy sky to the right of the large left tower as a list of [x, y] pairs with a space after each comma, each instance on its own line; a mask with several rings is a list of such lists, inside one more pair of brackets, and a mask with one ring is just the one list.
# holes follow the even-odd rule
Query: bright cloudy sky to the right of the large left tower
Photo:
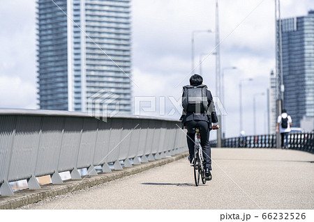
[[[239, 80], [253, 77], [254, 81], [244, 85], [244, 129], [253, 134], [253, 96], [266, 93], [269, 73], [275, 67], [274, 1], [238, 0], [220, 3], [221, 68], [237, 66], [237, 70], [226, 72], [225, 90], [228, 116], [227, 136], [238, 136], [239, 132]], [[281, 1], [285, 2], [285, 1]], [[162, 83], [154, 81], [149, 92], [161, 95], [172, 90], [181, 90], [188, 84], [190, 72], [190, 38], [193, 30], [215, 28], [215, 1], [133, 1], [134, 3], [134, 77], [142, 71], [141, 78], [152, 80], [156, 75]], [[256, 7], [257, 6], [257, 7]], [[281, 15], [294, 17], [306, 15], [310, 1], [288, 1], [282, 3]], [[157, 14], [157, 15], [156, 15]], [[250, 15], [249, 15], [250, 14]], [[214, 35], [195, 35], [195, 63], [202, 51], [214, 47]], [[178, 59], [181, 58], [181, 59]], [[170, 64], [170, 66], [169, 66]], [[214, 56], [203, 63], [204, 81], [215, 94]], [[178, 72], [175, 72], [175, 71]], [[195, 69], [198, 72], [198, 68]], [[173, 88], [172, 81], [181, 81]], [[227, 77], [229, 76], [229, 77]], [[165, 84], [167, 83], [167, 84]], [[156, 90], [156, 91], [155, 91]], [[148, 92], [148, 91], [147, 91]], [[135, 92], [136, 93], [136, 92]], [[257, 133], [264, 133], [266, 95], [257, 104]]]

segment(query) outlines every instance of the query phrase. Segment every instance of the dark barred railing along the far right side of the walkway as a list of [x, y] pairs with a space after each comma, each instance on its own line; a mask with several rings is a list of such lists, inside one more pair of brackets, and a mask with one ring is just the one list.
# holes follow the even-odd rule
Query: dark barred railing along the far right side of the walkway
[[[216, 147], [216, 141], [209, 141]], [[288, 149], [314, 153], [314, 133], [289, 134]], [[276, 148], [276, 134], [244, 136], [223, 139], [224, 148]]]

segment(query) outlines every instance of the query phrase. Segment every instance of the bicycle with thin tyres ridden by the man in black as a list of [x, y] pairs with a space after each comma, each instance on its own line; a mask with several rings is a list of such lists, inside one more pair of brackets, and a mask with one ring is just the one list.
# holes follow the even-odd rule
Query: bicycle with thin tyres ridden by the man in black
[[193, 159], [193, 167], [194, 167], [194, 180], [195, 185], [198, 187], [200, 184], [200, 177], [202, 177], [202, 183], [206, 184], [205, 180], [205, 169], [204, 169], [204, 156], [202, 146], [200, 145], [200, 128], [196, 128], [196, 140], [194, 145], [194, 159]]

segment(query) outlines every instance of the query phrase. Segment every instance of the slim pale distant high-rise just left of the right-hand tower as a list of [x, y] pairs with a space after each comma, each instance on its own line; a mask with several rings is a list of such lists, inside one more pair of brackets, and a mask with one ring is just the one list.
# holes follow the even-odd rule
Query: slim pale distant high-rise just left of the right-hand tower
[[268, 100], [268, 129], [269, 134], [276, 134], [276, 100], [277, 100], [277, 81], [278, 78], [273, 71], [271, 71], [269, 77], [269, 88], [267, 90], [267, 100]]

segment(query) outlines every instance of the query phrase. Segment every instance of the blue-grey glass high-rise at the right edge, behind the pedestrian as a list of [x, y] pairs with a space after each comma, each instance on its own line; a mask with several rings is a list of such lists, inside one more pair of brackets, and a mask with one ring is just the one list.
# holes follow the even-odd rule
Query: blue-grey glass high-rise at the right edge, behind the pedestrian
[[281, 19], [283, 107], [293, 127], [314, 118], [314, 10], [303, 17]]

